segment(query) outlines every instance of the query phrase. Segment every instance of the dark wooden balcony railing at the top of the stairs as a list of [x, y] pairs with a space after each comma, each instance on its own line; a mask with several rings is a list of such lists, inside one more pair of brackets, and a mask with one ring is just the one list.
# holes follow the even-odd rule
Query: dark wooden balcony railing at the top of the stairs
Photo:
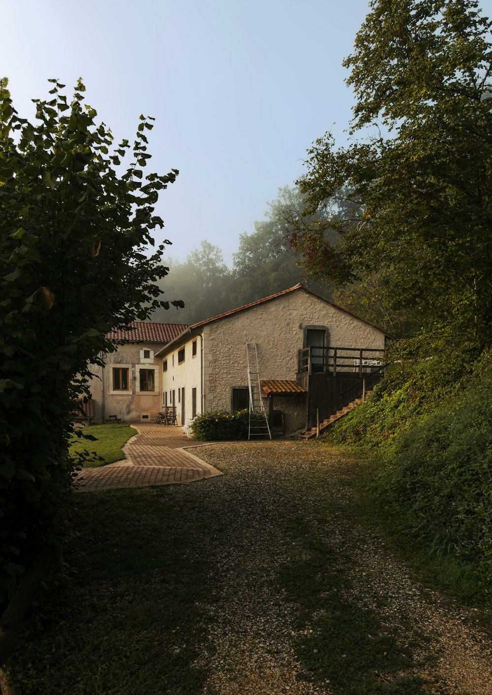
[[375, 347], [303, 347], [298, 373], [364, 375], [384, 365], [384, 349]]

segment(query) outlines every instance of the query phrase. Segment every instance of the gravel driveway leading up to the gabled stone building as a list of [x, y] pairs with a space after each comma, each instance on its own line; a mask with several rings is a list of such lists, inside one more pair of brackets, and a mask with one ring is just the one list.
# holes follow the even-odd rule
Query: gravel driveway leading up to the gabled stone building
[[[332, 646], [322, 641], [333, 605], [326, 603], [330, 587], [319, 592], [317, 610], [306, 619], [305, 608], [289, 598], [288, 584], [279, 582], [282, 571], [294, 566], [301, 576], [309, 573], [303, 564], [309, 565], [310, 548], [321, 548], [332, 558], [314, 580], [321, 581], [323, 572], [343, 572], [343, 582], [332, 587], [340, 605], [352, 614], [377, 617], [380, 635], [362, 635], [364, 640], [372, 647], [371, 640], [391, 639], [396, 651], [406, 654], [400, 671], [385, 669], [386, 652], [381, 660], [369, 661], [375, 682], [394, 685], [404, 678], [423, 678], [422, 689], [408, 692], [492, 693], [491, 639], [477, 612], [451, 605], [416, 584], [378, 533], [347, 514], [355, 494], [353, 466], [344, 461], [348, 455], [294, 442], [211, 445], [192, 452], [227, 473], [205, 484], [173, 488], [177, 496], [206, 502], [206, 514], [218, 523], [202, 548], [217, 567], [210, 578], [217, 603], [210, 607], [207, 640], [198, 646], [197, 665], [211, 674], [204, 695], [383, 692], [362, 690], [363, 674], [360, 690], [356, 683], [355, 689], [346, 684], [340, 690], [343, 683], [334, 687], [329, 677], [322, 677], [323, 649], [338, 647], [337, 639]], [[364, 627], [369, 625], [364, 617], [357, 624], [362, 632], [373, 630]], [[338, 655], [339, 663], [357, 674], [357, 665], [350, 665], [350, 642], [346, 651]], [[312, 664], [317, 657], [316, 671]]]

